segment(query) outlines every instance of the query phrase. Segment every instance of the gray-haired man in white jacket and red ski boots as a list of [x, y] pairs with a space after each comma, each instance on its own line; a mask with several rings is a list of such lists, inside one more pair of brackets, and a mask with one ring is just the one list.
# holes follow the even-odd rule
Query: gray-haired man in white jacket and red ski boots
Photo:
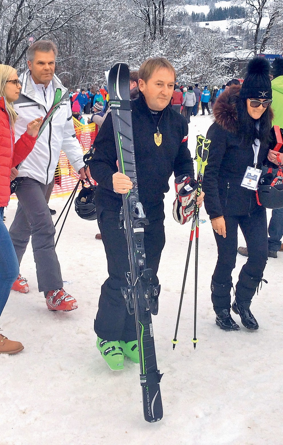
[[[16, 140], [27, 122], [40, 115], [45, 116], [55, 105], [55, 92], [58, 95], [61, 91], [61, 99], [66, 100], [37, 139], [32, 154], [18, 167], [16, 195], [19, 203], [9, 233], [19, 264], [32, 236], [38, 290], [44, 292], [48, 309], [72, 311], [77, 308], [77, 301], [63, 289], [54, 245], [55, 228], [45, 195], [53, 180], [61, 150], [81, 179], [85, 179], [86, 175], [90, 177], [90, 174], [84, 169], [83, 153], [75, 135], [68, 90], [54, 75], [57, 53], [57, 47], [51, 40], [38, 40], [28, 48], [28, 69], [20, 76], [22, 89], [14, 104], [18, 113]], [[28, 292], [26, 279], [19, 275], [12, 289]]]

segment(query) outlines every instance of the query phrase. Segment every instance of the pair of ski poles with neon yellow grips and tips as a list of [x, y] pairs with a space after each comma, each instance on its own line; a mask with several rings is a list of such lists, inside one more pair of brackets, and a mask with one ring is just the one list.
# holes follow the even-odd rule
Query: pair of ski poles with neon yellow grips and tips
[[[202, 135], [197, 136], [197, 147], [196, 147], [196, 155], [194, 160], [197, 161], [198, 166], [198, 190], [197, 190], [197, 197], [200, 195], [202, 191], [202, 179], [205, 167], [207, 165], [207, 158], [209, 153], [209, 146], [210, 146], [210, 139], [206, 139]], [[188, 248], [188, 254], [186, 259], [186, 267], [185, 267], [185, 273], [184, 273], [184, 279], [182, 284], [182, 291], [181, 291], [181, 298], [179, 303], [179, 310], [178, 310], [178, 316], [177, 316], [177, 323], [176, 323], [176, 329], [175, 329], [175, 336], [172, 340], [173, 343], [173, 350], [175, 349], [176, 344], [178, 343], [177, 340], [177, 332], [178, 332], [178, 326], [179, 326], [179, 320], [180, 320], [180, 314], [182, 309], [182, 302], [183, 302], [183, 296], [185, 291], [185, 285], [186, 285], [186, 278], [187, 278], [187, 272], [188, 272], [188, 266], [189, 266], [189, 260], [190, 260], [190, 252], [192, 249], [192, 243], [194, 238], [194, 229], [195, 229], [195, 269], [194, 269], [194, 338], [192, 339], [192, 342], [194, 343], [194, 349], [196, 347], [196, 344], [198, 342], [198, 339], [196, 337], [196, 329], [197, 329], [197, 293], [198, 293], [198, 227], [199, 227], [199, 207], [197, 203], [195, 203], [194, 206], [194, 215], [193, 215], [193, 222], [192, 222], [192, 228], [190, 231], [190, 243]]]

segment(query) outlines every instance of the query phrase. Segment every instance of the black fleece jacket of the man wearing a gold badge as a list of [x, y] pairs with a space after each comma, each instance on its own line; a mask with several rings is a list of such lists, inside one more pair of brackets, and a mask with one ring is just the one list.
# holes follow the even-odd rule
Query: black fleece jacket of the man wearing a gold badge
[[[188, 125], [185, 117], [167, 106], [159, 122], [162, 144], [158, 147], [154, 142], [156, 123], [141, 93], [132, 102], [132, 121], [139, 198], [146, 212], [152, 214], [169, 190], [168, 180], [173, 171], [175, 177], [185, 173], [194, 177], [187, 147]], [[120, 211], [121, 194], [113, 192], [112, 183], [112, 175], [117, 172], [117, 153], [111, 113], [101, 126], [94, 146], [89, 168], [98, 182], [96, 204], [105, 210]]]

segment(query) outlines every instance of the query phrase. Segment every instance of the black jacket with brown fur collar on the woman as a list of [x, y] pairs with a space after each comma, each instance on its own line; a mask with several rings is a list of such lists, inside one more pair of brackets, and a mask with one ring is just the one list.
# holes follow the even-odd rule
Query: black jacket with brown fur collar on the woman
[[[247, 166], [254, 166], [254, 150], [252, 144], [247, 146], [234, 131], [237, 113], [230, 99], [235, 91], [239, 93], [230, 88], [218, 97], [213, 110], [215, 122], [206, 135], [211, 144], [202, 190], [210, 219], [222, 215], [248, 215], [258, 206], [255, 191], [241, 187]], [[268, 144], [261, 143], [257, 168], [261, 168], [268, 150]]]

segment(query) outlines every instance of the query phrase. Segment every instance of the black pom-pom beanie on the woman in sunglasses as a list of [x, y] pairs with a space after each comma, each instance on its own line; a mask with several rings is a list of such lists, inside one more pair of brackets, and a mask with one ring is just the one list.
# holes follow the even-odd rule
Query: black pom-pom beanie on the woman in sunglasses
[[270, 64], [264, 57], [254, 57], [247, 66], [247, 76], [240, 89], [240, 98], [272, 99]]

